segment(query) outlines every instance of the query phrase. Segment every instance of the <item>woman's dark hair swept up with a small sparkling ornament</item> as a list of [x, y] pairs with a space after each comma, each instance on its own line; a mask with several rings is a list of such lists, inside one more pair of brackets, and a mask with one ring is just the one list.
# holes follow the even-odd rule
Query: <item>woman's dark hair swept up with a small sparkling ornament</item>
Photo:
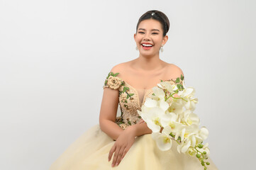
[[[152, 13], [154, 13], [154, 14], [152, 15]], [[167, 18], [165, 13], [162, 13], [161, 11], [157, 11], [157, 10], [148, 11], [148, 12], [144, 13], [142, 16], [140, 16], [140, 19], [136, 26], [136, 33], [137, 33], [138, 26], [139, 26], [140, 22], [143, 20], [150, 19], [150, 18], [160, 21], [160, 23], [162, 25], [162, 30], [164, 30], [164, 33], [162, 34], [162, 36], [164, 37], [169, 30], [169, 19]]]

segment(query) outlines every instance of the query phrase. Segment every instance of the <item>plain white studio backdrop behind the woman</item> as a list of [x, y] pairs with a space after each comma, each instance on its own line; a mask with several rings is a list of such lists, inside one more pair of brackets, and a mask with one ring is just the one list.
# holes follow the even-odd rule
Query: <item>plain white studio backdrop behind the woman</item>
[[172, 27], [160, 53], [199, 98], [219, 169], [255, 163], [256, 1], [0, 1], [0, 169], [48, 169], [99, 123], [110, 69], [138, 57], [143, 13]]

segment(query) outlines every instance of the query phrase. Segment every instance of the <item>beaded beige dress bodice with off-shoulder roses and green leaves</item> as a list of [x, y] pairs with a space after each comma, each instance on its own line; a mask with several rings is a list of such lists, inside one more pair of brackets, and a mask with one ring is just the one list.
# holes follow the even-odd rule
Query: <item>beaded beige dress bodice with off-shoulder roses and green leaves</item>
[[[118, 104], [121, 110], [121, 116], [116, 118], [116, 123], [124, 130], [129, 125], [135, 125], [141, 117], [138, 111], [145, 103], [145, 99], [152, 95], [152, 89], [135, 89], [126, 81], [118, 77], [119, 73], [109, 72], [106, 77], [104, 88], [110, 88], [119, 91]], [[178, 78], [177, 78], [178, 79]], [[168, 79], [171, 84], [176, 84], [177, 79]], [[184, 85], [184, 80], [179, 80], [179, 84]], [[157, 86], [157, 84], [156, 84]]]

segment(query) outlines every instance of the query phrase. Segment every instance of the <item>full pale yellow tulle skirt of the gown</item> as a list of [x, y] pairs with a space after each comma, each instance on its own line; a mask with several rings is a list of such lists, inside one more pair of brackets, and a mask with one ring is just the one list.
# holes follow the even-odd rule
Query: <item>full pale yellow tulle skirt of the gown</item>
[[[177, 142], [172, 142], [172, 148], [168, 151], [158, 149], [151, 134], [145, 134], [135, 138], [132, 147], [118, 166], [111, 167], [112, 160], [108, 162], [108, 153], [115, 141], [105, 132], [94, 125], [84, 132], [70, 145], [60, 157], [53, 162], [50, 170], [197, 170], [204, 169], [199, 159], [177, 152]], [[217, 169], [209, 157], [208, 170]]]

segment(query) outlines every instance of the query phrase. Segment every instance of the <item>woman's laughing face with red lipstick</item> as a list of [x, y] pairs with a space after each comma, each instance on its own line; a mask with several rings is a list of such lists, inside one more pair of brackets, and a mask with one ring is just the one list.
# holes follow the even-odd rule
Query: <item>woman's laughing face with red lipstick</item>
[[140, 55], [152, 56], [159, 54], [161, 45], [164, 46], [168, 40], [168, 36], [165, 35], [163, 37], [162, 34], [163, 30], [160, 21], [154, 19], [141, 21], [137, 33], [134, 34], [134, 40]]

